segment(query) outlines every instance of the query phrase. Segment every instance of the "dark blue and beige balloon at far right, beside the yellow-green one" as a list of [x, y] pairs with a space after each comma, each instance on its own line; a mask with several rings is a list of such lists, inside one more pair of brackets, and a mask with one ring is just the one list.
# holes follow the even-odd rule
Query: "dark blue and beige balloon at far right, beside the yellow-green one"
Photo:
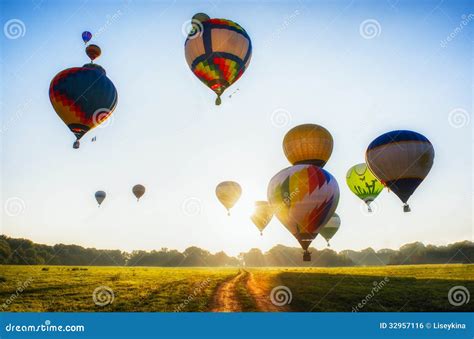
[[382, 134], [367, 148], [370, 171], [403, 202], [409, 212], [408, 199], [433, 166], [434, 148], [423, 135], [413, 131]]

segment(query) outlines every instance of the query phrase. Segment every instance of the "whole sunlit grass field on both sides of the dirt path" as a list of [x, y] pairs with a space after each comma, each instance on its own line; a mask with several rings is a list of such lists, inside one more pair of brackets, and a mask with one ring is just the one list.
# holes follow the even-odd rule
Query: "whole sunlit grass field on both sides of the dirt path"
[[[215, 309], [219, 287], [238, 273], [238, 268], [1, 266], [0, 305], [12, 312], [202, 312]], [[235, 299], [233, 309], [240, 311], [274, 311], [258, 305], [277, 286], [291, 291], [289, 311], [474, 311], [472, 300], [460, 306], [448, 300], [454, 286], [474, 292], [474, 265], [246, 268], [244, 273], [225, 296]], [[114, 294], [105, 306], [92, 297], [101, 286]], [[96, 293], [96, 300], [105, 304], [110, 295]]]

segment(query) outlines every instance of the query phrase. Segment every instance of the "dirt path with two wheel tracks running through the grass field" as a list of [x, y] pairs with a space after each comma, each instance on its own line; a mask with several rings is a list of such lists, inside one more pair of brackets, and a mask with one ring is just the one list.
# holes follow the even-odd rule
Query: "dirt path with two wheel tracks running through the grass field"
[[256, 281], [255, 276], [246, 270], [222, 283], [214, 295], [214, 307], [211, 312], [242, 312], [242, 303], [238, 300], [237, 289], [245, 286], [254, 300], [259, 312], [288, 312], [288, 306], [275, 306], [270, 299], [271, 286], [268, 281]]

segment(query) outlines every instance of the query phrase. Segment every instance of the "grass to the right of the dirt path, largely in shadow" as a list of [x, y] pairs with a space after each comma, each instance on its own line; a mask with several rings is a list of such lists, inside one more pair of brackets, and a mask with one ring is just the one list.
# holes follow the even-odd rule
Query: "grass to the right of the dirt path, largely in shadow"
[[267, 274], [291, 289], [294, 311], [474, 311], [472, 300], [458, 307], [448, 301], [454, 286], [474, 293], [474, 265], [283, 269]]

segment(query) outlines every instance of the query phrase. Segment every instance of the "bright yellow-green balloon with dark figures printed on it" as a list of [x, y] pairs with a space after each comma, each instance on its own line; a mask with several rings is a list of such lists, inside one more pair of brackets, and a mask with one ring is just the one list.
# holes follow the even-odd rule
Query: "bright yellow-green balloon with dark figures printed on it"
[[349, 168], [346, 175], [346, 182], [349, 189], [362, 199], [369, 209], [370, 203], [377, 198], [382, 192], [384, 186], [382, 183], [372, 174], [365, 163], [357, 164]]

